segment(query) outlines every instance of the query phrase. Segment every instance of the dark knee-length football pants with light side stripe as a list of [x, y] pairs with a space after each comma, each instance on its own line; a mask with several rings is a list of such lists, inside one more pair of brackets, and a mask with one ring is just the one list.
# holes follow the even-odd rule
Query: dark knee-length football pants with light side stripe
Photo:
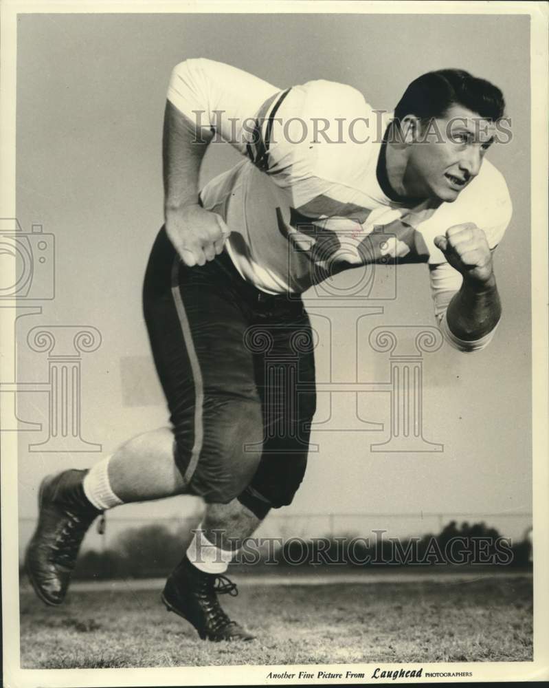
[[189, 268], [162, 228], [146, 270], [144, 314], [188, 491], [205, 502], [238, 497], [260, 517], [290, 504], [315, 413], [301, 299], [251, 286], [225, 251]]

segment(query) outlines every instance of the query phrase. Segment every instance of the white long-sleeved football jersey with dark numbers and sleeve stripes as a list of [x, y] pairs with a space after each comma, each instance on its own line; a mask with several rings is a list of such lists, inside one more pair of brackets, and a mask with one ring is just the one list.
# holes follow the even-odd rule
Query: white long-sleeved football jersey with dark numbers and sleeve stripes
[[488, 160], [453, 203], [391, 200], [377, 174], [391, 115], [348, 85], [315, 80], [281, 90], [191, 59], [175, 67], [168, 99], [194, 131], [214, 129], [246, 156], [201, 200], [231, 230], [227, 250], [240, 275], [265, 292], [302, 292], [357, 261], [424, 262], [441, 319], [462, 277], [434, 237], [474, 222], [495, 248], [511, 219], [505, 180]]

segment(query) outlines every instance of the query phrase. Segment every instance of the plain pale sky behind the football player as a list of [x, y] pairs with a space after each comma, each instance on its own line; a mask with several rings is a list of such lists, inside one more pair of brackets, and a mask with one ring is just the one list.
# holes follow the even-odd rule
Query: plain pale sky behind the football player
[[[513, 139], [488, 155], [504, 174], [514, 206], [495, 257], [504, 316], [486, 350], [467, 355], [443, 345], [424, 356], [423, 434], [444, 451], [372, 453], [372, 442], [388, 438], [389, 395], [359, 398], [359, 416], [385, 424], [372, 433], [353, 430], [359, 427], [353, 396], [334, 395], [330, 418], [328, 396], [320, 394], [315, 420], [323, 424], [311, 438], [320, 451], [311, 454], [304, 483], [282, 513], [287, 533], [322, 535], [333, 521], [298, 515], [379, 514], [337, 517], [336, 529], [364, 534], [397, 526], [409, 533], [438, 530], [438, 520], [422, 513], [467, 513], [472, 520], [530, 512], [528, 21], [455, 14], [20, 15], [17, 217], [26, 233], [41, 224], [54, 234], [56, 290], [51, 301], [29, 301], [42, 305], [42, 314], [22, 317], [16, 326], [19, 380], [47, 380], [46, 354], [27, 345], [32, 327], [89, 325], [102, 337], [96, 352], [82, 354], [81, 405], [82, 437], [101, 444], [102, 453], [29, 451], [30, 442], [47, 438], [47, 395], [20, 395], [20, 418], [44, 424], [43, 431], [20, 436], [21, 542], [32, 528], [43, 475], [90, 466], [131, 436], [166, 424], [141, 288], [162, 222], [161, 129], [170, 72], [183, 59], [201, 56], [280, 87], [315, 78], [348, 83], [377, 109], [391, 110], [413, 78], [442, 67], [467, 69], [502, 88]], [[237, 160], [228, 146], [211, 147], [203, 181]], [[370, 330], [434, 325], [427, 267], [392, 268], [385, 279], [394, 279], [394, 270], [393, 300], [326, 308], [325, 299], [307, 294], [319, 334], [320, 383], [388, 381], [389, 354], [372, 351]], [[337, 279], [343, 286], [355, 278]], [[382, 306], [383, 313], [358, 320], [368, 305]], [[137, 524], [197, 508], [197, 499], [177, 497], [123, 506], [113, 519]], [[395, 513], [407, 517], [385, 516]], [[529, 522], [486, 520], [515, 537]]]

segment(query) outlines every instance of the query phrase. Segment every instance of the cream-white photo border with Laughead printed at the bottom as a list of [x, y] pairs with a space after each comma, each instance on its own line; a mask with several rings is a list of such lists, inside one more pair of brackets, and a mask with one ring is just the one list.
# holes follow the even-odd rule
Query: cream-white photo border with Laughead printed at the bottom
[[[15, 133], [16, 133], [16, 23], [18, 14], [40, 13], [120, 13], [165, 12], [282, 14], [290, 12], [370, 14], [527, 14], [530, 16], [531, 78], [531, 180], [532, 180], [532, 356], [533, 356], [533, 545], [534, 560], [534, 660], [510, 663], [445, 663], [444, 670], [472, 671], [462, 682], [494, 680], [543, 680], [549, 678], [549, 441], [548, 441], [548, 6], [543, 2], [335, 2], [271, 1], [265, 2], [24, 2], [4, 0], [1, 6], [1, 113], [0, 113], [0, 217], [15, 213]], [[14, 272], [15, 274], [15, 266]], [[1, 311], [0, 311], [1, 319]], [[2, 328], [0, 348], [5, 356], [14, 356], [13, 333]], [[1, 397], [0, 397], [1, 398]], [[1, 408], [0, 408], [1, 412]], [[1, 418], [1, 415], [0, 415]], [[1, 442], [1, 554], [3, 671], [8, 688], [69, 686], [171, 686], [171, 685], [271, 685], [289, 684], [288, 680], [267, 680], [277, 668], [303, 667], [216, 666], [166, 669], [21, 669], [19, 665], [19, 577], [17, 537], [17, 436], [0, 433]], [[360, 665], [364, 669], [372, 665]], [[405, 669], [418, 665], [400, 665]], [[423, 664], [424, 671], [440, 671], [440, 665]], [[318, 669], [330, 669], [329, 665]], [[337, 665], [342, 669], [357, 665]], [[367, 673], [368, 676], [368, 673]], [[434, 679], [432, 679], [434, 680]], [[455, 682], [453, 678], [437, 681]], [[422, 682], [428, 682], [423, 678]], [[330, 683], [330, 680], [302, 680], [300, 685]], [[360, 679], [355, 682], [375, 682]], [[405, 682], [397, 680], [395, 682]], [[291, 682], [290, 682], [291, 683]]]

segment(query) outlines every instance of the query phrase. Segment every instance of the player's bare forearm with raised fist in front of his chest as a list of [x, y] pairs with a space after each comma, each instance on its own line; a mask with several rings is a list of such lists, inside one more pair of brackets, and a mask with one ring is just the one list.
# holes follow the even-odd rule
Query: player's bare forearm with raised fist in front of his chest
[[475, 224], [458, 224], [434, 241], [463, 276], [460, 290], [448, 305], [448, 327], [464, 341], [478, 340], [492, 332], [502, 314], [486, 235]]

